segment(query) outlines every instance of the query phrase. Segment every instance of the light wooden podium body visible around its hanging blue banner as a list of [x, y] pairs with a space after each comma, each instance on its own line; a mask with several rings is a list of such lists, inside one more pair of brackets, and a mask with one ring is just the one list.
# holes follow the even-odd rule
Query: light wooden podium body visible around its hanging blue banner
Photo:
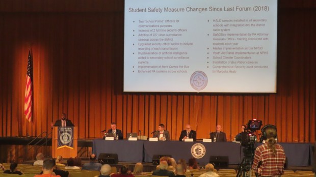
[[63, 158], [74, 158], [77, 156], [77, 147], [78, 147], [78, 129], [77, 127], [73, 127], [73, 150], [68, 147], [63, 147], [61, 149], [57, 149], [58, 145], [58, 127], [54, 127], [52, 130], [52, 142], [51, 142], [51, 157], [57, 158], [57, 156], [61, 155]]

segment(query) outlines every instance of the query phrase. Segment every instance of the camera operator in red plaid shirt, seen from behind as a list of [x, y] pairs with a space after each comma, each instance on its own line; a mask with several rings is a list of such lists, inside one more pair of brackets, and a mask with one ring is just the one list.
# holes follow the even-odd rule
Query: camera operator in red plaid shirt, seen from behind
[[283, 147], [275, 140], [276, 127], [269, 125], [262, 129], [267, 140], [256, 148], [252, 169], [259, 176], [281, 176], [284, 173], [285, 153]]

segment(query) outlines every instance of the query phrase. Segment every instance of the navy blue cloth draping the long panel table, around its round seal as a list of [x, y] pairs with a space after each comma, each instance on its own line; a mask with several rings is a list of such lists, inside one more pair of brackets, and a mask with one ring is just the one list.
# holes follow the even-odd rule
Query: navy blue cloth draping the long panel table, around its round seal
[[[192, 157], [191, 147], [195, 143], [205, 146], [204, 157], [197, 159], [199, 165], [209, 162], [210, 156], [228, 156], [229, 164], [239, 164], [244, 155], [241, 145], [234, 142], [182, 142], [182, 141], [128, 141], [128, 140], [93, 140], [93, 153], [118, 154], [120, 162], [152, 162], [153, 155], [172, 155], [177, 161], [186, 161]], [[308, 143], [280, 143], [284, 147], [288, 166], [309, 166], [312, 156]], [[257, 143], [256, 146], [260, 145]]]

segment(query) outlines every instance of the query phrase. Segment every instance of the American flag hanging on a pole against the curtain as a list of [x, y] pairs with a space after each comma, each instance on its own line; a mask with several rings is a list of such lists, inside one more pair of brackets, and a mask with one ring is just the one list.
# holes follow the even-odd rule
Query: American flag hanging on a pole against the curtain
[[33, 99], [33, 56], [32, 49], [29, 49], [28, 70], [27, 70], [27, 86], [25, 87], [24, 114], [25, 118], [31, 122], [32, 120], [32, 99]]

